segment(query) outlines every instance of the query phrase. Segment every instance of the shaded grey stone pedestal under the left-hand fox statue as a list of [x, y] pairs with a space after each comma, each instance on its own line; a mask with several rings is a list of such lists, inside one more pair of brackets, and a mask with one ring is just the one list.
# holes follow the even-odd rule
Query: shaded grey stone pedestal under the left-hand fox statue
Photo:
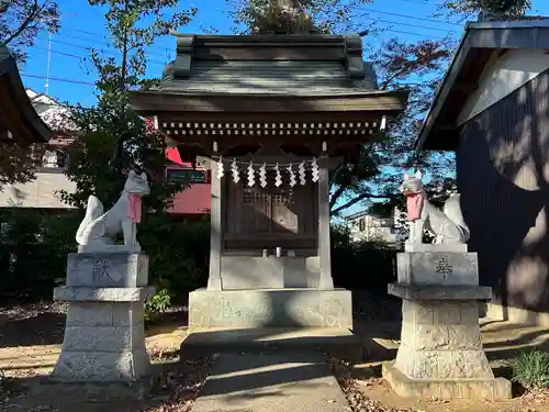
[[144, 301], [148, 258], [144, 254], [69, 254], [67, 286], [54, 300], [67, 301], [61, 354], [52, 374], [60, 381], [137, 381], [148, 376]]

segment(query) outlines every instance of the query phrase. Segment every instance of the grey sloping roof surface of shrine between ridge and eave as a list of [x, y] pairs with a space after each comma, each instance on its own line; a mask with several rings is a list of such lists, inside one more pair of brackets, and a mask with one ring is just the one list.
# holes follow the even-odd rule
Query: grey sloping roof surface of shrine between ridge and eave
[[315, 60], [198, 60], [189, 79], [173, 79], [165, 70], [161, 91], [197, 93], [339, 94], [376, 90], [371, 64], [365, 78], [350, 79], [340, 62]]

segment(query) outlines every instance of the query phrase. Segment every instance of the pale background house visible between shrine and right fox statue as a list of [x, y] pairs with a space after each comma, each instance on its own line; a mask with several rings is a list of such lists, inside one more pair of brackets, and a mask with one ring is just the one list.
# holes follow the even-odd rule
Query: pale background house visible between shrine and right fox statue
[[383, 242], [396, 246], [399, 238], [395, 231], [394, 210], [361, 211], [345, 216], [350, 226], [352, 242]]

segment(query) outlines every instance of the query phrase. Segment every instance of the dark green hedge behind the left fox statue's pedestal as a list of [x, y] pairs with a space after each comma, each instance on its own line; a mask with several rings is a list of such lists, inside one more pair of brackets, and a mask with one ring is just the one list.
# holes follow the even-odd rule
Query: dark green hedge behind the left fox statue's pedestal
[[[67, 254], [76, 250], [78, 211], [42, 214], [12, 209], [2, 214], [0, 302], [51, 300], [66, 278]], [[149, 255], [149, 282], [166, 290], [171, 302], [184, 303], [189, 291], [206, 285], [209, 221], [167, 221], [146, 215], [139, 241]], [[161, 240], [161, 241], [159, 241]]]

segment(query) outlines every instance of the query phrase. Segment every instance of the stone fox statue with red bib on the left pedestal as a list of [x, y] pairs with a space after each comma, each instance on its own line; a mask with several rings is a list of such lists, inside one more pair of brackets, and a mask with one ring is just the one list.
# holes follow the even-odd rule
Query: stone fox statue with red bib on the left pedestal
[[[147, 175], [130, 170], [124, 190], [114, 205], [103, 212], [103, 204], [94, 196], [88, 199], [86, 215], [76, 232], [79, 252], [104, 252], [114, 248], [113, 238], [122, 232], [124, 250], [139, 253], [136, 223], [141, 221], [141, 197], [149, 194]], [[119, 246], [120, 247], [120, 246]]]

